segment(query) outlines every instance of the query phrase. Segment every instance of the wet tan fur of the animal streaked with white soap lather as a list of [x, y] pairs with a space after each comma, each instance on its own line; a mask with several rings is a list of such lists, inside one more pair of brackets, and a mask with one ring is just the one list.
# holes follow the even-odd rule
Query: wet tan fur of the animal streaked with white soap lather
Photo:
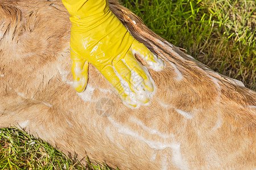
[[[0, 127], [18, 126], [83, 163], [89, 156], [121, 169], [256, 168], [255, 92], [170, 46], [117, 2], [110, 7], [166, 63], [163, 71], [149, 69], [156, 86], [150, 105], [125, 107], [92, 65], [88, 87], [77, 94], [61, 1], [5, 0]], [[102, 97], [110, 99], [109, 115], [97, 110]]]

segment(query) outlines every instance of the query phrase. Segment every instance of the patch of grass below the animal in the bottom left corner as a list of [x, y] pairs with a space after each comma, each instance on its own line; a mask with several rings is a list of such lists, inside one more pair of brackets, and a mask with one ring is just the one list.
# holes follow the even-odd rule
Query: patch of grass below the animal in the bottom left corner
[[[75, 159], [76, 160], [76, 159]], [[35, 139], [16, 128], [0, 129], [0, 169], [105, 169], [105, 164], [89, 160], [82, 167], [42, 139]]]

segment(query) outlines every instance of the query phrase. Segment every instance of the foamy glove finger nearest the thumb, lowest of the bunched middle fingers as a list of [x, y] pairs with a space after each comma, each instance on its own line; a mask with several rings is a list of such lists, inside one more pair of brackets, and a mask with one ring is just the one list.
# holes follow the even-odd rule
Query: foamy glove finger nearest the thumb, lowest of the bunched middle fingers
[[128, 106], [137, 107], [137, 101], [135, 99], [134, 92], [130, 90], [129, 84], [125, 80], [123, 80], [121, 77], [118, 77], [117, 71], [112, 66], [105, 66], [100, 70], [100, 72], [117, 90], [123, 103]]

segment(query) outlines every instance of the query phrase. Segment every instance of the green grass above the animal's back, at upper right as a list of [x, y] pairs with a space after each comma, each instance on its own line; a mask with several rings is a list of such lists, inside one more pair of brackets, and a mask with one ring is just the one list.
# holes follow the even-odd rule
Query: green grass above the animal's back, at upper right
[[253, 0], [122, 0], [155, 33], [256, 90]]

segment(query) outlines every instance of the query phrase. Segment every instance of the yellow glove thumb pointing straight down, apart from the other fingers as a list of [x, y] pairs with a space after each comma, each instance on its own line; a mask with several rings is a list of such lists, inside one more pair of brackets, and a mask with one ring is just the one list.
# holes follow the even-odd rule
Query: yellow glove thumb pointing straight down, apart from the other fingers
[[73, 74], [73, 87], [79, 93], [84, 91], [88, 80], [88, 61], [72, 58], [71, 71]]

